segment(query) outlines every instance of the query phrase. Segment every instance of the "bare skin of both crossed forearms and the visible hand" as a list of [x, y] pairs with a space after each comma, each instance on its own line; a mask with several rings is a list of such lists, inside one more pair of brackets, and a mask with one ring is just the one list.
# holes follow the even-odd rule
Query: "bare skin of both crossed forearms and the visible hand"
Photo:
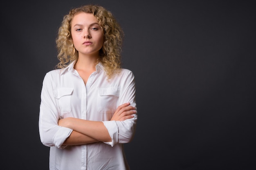
[[[135, 107], [130, 103], [120, 105], [111, 120], [124, 121], [133, 118]], [[83, 120], [79, 118], [64, 118], [58, 121], [59, 126], [73, 129], [63, 145], [80, 145], [93, 142], [111, 142], [111, 137], [105, 125], [101, 121]]]

